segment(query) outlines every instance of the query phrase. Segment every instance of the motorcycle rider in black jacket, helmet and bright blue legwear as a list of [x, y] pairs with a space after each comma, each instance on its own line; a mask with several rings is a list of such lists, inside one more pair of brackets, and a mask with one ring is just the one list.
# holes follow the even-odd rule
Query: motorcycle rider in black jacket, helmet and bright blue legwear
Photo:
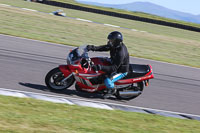
[[92, 67], [95, 71], [101, 70], [106, 73], [104, 84], [106, 85], [108, 92], [104, 95], [104, 98], [108, 98], [116, 92], [114, 83], [124, 78], [129, 70], [129, 53], [127, 47], [123, 43], [122, 34], [118, 31], [113, 31], [107, 38], [108, 42], [106, 45], [87, 45], [88, 51], [110, 51], [110, 66], [98, 64]]

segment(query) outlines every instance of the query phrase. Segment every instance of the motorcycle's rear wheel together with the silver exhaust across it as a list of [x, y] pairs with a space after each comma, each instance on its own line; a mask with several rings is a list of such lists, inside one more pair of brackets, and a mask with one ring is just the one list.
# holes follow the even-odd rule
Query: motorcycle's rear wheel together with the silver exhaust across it
[[115, 96], [121, 100], [134, 99], [142, 93], [143, 88], [143, 82], [134, 83], [130, 87], [118, 89]]

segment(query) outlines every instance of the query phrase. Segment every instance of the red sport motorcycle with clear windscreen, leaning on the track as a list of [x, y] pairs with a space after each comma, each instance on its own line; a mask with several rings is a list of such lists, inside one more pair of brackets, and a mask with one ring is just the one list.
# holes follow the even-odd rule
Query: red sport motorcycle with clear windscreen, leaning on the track
[[[86, 46], [80, 46], [69, 53], [67, 65], [60, 65], [48, 72], [45, 83], [52, 91], [63, 91], [75, 82], [77, 91], [106, 94], [105, 73], [94, 71], [92, 66], [96, 64], [110, 65], [110, 61], [105, 57], [89, 58]], [[123, 100], [136, 98], [152, 78], [151, 65], [130, 64], [128, 75], [115, 82], [117, 91], [114, 96]]]

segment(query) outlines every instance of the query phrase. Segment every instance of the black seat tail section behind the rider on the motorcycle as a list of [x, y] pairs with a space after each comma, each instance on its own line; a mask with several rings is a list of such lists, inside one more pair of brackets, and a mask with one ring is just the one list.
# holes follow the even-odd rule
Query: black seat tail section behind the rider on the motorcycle
[[129, 64], [129, 72], [124, 79], [137, 78], [146, 75], [150, 71], [148, 65]]

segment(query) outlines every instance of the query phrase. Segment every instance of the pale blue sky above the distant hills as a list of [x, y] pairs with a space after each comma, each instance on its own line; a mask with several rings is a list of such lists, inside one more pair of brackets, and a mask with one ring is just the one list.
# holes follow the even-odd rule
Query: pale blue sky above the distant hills
[[127, 4], [132, 2], [151, 2], [176, 11], [200, 15], [200, 0], [77, 0], [104, 4]]

